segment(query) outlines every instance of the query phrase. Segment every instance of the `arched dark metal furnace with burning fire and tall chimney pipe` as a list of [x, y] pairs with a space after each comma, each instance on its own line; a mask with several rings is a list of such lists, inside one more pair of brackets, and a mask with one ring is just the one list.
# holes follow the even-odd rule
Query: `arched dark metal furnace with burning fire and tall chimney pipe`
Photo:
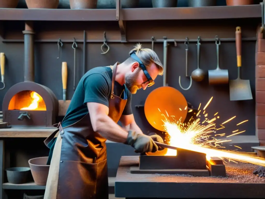
[[3, 99], [3, 122], [9, 126], [52, 127], [58, 115], [58, 99], [51, 89], [34, 82], [33, 23], [25, 23], [24, 82], [7, 90]]

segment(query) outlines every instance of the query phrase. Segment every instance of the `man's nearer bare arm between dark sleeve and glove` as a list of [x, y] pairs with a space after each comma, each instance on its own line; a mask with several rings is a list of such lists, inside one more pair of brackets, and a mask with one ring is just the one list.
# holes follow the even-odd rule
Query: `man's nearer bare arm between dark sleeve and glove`
[[108, 116], [109, 108], [103, 104], [88, 102], [90, 120], [94, 131], [113, 142], [126, 142], [128, 132]]

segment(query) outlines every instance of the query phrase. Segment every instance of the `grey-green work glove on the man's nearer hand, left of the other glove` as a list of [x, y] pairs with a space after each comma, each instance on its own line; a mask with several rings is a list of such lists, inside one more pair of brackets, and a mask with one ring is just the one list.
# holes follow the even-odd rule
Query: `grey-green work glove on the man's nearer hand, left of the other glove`
[[135, 131], [128, 131], [128, 137], [125, 144], [131, 145], [135, 148], [135, 153], [154, 153], [158, 150], [158, 146], [154, 143], [151, 136], [137, 133]]

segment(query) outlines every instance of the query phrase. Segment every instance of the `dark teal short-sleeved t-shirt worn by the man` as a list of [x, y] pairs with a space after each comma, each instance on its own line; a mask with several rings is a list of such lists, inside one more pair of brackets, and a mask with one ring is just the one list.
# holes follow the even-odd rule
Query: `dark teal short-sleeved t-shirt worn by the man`
[[[109, 106], [111, 96], [112, 70], [108, 66], [95, 67], [87, 71], [79, 81], [70, 105], [67, 109], [62, 126], [69, 126], [82, 119], [88, 113], [87, 102], [96, 102]], [[133, 114], [131, 108], [131, 93], [125, 85], [115, 81], [114, 94], [126, 98], [123, 90], [127, 90], [127, 103], [122, 115]]]

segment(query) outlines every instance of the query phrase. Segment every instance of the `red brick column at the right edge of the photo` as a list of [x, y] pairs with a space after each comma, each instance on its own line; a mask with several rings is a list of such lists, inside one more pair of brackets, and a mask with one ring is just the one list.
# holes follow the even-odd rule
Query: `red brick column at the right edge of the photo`
[[256, 42], [256, 131], [261, 146], [265, 146], [265, 39], [257, 29]]

